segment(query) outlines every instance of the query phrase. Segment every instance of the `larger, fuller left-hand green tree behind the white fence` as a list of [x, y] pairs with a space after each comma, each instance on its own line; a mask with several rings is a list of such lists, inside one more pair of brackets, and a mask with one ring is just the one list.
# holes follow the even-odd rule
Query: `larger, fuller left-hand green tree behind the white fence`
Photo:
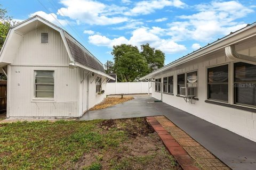
[[114, 46], [111, 54], [114, 56], [114, 70], [119, 82], [133, 82], [148, 72], [147, 61], [137, 46]]

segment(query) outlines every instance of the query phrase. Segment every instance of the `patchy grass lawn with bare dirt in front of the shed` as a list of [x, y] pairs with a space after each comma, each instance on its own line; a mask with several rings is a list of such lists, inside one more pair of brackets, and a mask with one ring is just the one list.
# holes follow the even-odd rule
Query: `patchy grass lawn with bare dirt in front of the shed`
[[0, 124], [0, 169], [180, 169], [145, 118]]

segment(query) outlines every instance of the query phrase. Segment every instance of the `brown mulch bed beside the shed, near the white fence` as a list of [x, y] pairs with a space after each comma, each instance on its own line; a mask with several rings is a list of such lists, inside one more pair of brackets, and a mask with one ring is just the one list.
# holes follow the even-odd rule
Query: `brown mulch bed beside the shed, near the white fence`
[[125, 101], [129, 101], [134, 99], [132, 96], [124, 96], [123, 98], [121, 97], [107, 97], [105, 98], [100, 104], [93, 106], [92, 108], [89, 109], [89, 111], [95, 111], [103, 108], [107, 108], [110, 106], [114, 106], [120, 103], [124, 103]]

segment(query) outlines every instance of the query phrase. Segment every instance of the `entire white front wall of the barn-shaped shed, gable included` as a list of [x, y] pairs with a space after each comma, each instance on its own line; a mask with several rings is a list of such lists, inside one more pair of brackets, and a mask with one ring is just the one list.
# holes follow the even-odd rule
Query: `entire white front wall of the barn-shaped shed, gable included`
[[[41, 44], [41, 32], [49, 33], [49, 43]], [[69, 69], [69, 57], [60, 33], [43, 25], [23, 35], [13, 64], [9, 65], [10, 117], [78, 117], [79, 68]], [[54, 69], [54, 101], [34, 98], [34, 70]], [[82, 111], [81, 111], [82, 112]]]

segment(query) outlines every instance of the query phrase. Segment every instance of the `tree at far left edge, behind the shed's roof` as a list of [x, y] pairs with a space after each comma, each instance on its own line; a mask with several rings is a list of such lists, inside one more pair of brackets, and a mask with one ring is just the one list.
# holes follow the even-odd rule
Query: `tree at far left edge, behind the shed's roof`
[[12, 17], [8, 15], [8, 11], [0, 5], [0, 50], [4, 45], [4, 41], [10, 28], [16, 23], [17, 22], [13, 21]]

